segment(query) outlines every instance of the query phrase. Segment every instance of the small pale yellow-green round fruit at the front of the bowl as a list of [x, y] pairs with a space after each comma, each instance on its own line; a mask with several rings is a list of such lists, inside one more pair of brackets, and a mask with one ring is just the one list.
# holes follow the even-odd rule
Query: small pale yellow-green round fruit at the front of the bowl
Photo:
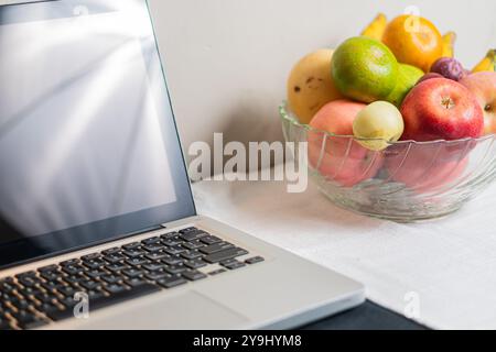
[[405, 130], [401, 112], [392, 103], [375, 101], [359, 111], [353, 121], [353, 135], [364, 147], [381, 151], [401, 138]]

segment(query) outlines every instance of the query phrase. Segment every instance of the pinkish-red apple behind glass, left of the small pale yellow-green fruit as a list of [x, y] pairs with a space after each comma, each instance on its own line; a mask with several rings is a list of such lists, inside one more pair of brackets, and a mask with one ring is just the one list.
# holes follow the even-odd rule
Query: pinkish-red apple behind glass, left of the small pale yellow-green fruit
[[[360, 102], [335, 100], [312, 119], [309, 131], [309, 163], [330, 180], [352, 187], [374, 177], [382, 165], [380, 153], [371, 152], [353, 139], [353, 121], [366, 107]], [[339, 136], [327, 136], [325, 131]]]

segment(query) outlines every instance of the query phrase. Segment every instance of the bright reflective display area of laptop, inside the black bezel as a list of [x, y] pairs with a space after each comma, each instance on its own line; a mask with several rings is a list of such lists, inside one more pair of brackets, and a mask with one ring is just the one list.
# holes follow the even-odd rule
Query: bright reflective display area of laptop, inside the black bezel
[[153, 34], [128, 14], [1, 26], [0, 216], [24, 235], [177, 199], [150, 91]]

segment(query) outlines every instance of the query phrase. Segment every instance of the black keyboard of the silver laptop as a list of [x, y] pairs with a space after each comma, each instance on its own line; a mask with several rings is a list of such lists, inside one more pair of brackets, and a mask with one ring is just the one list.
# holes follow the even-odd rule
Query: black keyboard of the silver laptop
[[0, 279], [0, 330], [34, 329], [72, 318], [82, 295], [88, 298], [90, 314], [263, 261], [237, 260], [248, 254], [187, 228], [21, 273]]

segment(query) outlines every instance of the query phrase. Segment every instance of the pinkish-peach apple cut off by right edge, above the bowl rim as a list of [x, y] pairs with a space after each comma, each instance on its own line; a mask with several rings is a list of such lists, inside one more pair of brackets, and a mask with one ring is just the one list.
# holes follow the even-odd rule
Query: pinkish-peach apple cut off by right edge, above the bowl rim
[[496, 73], [475, 73], [460, 82], [474, 94], [483, 109], [484, 134], [496, 133]]

